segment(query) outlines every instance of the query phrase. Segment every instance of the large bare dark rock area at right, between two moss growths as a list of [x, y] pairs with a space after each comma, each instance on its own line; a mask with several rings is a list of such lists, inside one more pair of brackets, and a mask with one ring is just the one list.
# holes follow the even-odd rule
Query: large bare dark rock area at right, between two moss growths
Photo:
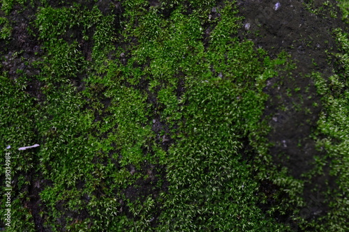
[[[266, 49], [272, 57], [285, 51], [295, 64], [292, 70], [268, 80], [265, 93], [271, 98], [264, 114], [272, 126], [268, 138], [273, 144], [269, 152], [274, 162], [287, 167], [292, 176], [301, 180], [306, 180], [302, 175], [313, 168], [313, 157], [325, 154], [315, 148], [315, 141], [311, 138], [322, 107], [309, 75], [320, 72], [328, 78], [334, 74], [336, 58], [333, 54], [339, 49], [333, 30], [348, 31], [348, 25], [341, 21], [336, 1], [330, 2], [338, 13], [337, 17], [330, 17], [325, 10], [311, 13], [306, 8], [306, 1], [239, 1], [245, 25], [240, 32], [241, 38], [252, 40], [256, 47]], [[321, 3], [315, 1], [315, 6], [321, 6]], [[319, 192], [335, 187], [334, 178], [326, 170], [324, 176], [306, 181], [304, 199], [307, 203], [313, 203], [309, 199], [313, 187], [317, 186]], [[324, 196], [320, 194], [319, 197], [323, 199]], [[312, 208], [307, 217], [320, 217], [327, 210], [326, 203], [318, 201], [317, 207]], [[287, 217], [279, 219], [285, 222]]]

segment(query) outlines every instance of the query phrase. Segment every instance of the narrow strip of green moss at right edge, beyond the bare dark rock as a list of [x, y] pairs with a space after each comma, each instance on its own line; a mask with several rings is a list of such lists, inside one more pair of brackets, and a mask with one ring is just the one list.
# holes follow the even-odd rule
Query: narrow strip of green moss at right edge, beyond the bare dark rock
[[[336, 31], [336, 39], [341, 46], [342, 53], [338, 55], [339, 62], [343, 65], [343, 72], [332, 75], [328, 80], [325, 80], [321, 75], [315, 74], [315, 85], [318, 88], [318, 93], [322, 95], [322, 105], [324, 109], [320, 114], [318, 121], [317, 146], [319, 150], [325, 150], [327, 155], [317, 161], [315, 169], [318, 173], [323, 172], [326, 159], [332, 160], [329, 164], [331, 171], [330, 176], [336, 178], [336, 184], [339, 189], [329, 190], [327, 196], [334, 196], [334, 199], [329, 202], [331, 210], [320, 220], [325, 220], [322, 225], [318, 221], [313, 220], [310, 224], [315, 229], [325, 229], [326, 231], [346, 231], [346, 195], [348, 195], [348, 175], [346, 167], [348, 167], [349, 154], [349, 92], [348, 92], [348, 70], [347, 56], [349, 52], [348, 47], [348, 33], [343, 33], [341, 30]], [[314, 169], [314, 171], [315, 171]], [[306, 222], [303, 225], [306, 228]]]

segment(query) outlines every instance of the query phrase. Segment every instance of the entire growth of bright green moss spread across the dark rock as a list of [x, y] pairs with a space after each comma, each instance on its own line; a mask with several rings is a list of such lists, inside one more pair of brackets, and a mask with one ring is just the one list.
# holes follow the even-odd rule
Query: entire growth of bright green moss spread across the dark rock
[[[2, 3], [7, 14], [11, 4], [22, 4]], [[295, 64], [285, 52], [272, 59], [239, 40], [236, 2], [215, 3], [133, 0], [102, 13], [97, 6], [40, 1], [32, 23], [43, 54], [27, 63], [40, 72], [0, 75], [0, 145], [40, 144], [13, 150], [13, 174], [20, 174], [13, 231], [34, 231], [24, 207], [31, 201], [29, 173], [52, 183], [37, 196], [50, 231], [292, 230], [275, 215], [292, 215], [288, 222], [298, 220], [303, 229], [346, 228], [348, 35], [335, 32], [343, 72], [328, 80], [309, 75], [325, 106], [314, 134], [325, 137], [318, 148], [334, 160], [331, 174], [340, 187], [328, 193], [336, 196], [332, 210], [306, 222], [296, 216], [305, 206], [306, 180], [274, 167], [270, 128], [261, 119], [267, 79]], [[220, 17], [207, 17], [212, 7]], [[214, 25], [208, 37], [207, 23]], [[27, 90], [34, 81], [40, 99]], [[315, 163], [304, 178], [325, 169], [324, 157]], [[275, 191], [262, 192], [263, 182]]]

